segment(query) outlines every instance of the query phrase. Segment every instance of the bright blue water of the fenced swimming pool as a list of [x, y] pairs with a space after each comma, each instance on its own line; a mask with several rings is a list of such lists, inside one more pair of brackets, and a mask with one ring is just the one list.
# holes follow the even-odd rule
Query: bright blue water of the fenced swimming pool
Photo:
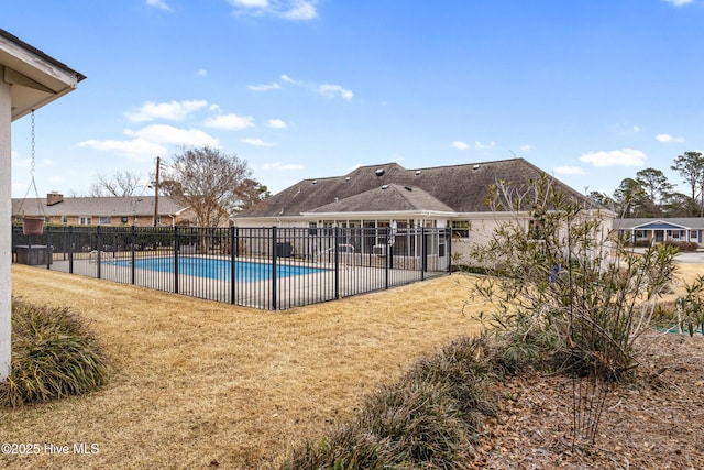
[[[114, 261], [118, 266], [129, 266], [131, 261]], [[135, 260], [134, 267], [140, 270], [158, 271], [162, 273], [174, 272], [174, 258], [143, 258]], [[179, 256], [178, 274], [189, 276], [208, 277], [212, 280], [230, 281], [230, 260], [218, 260], [212, 258]], [[277, 277], [298, 276], [302, 274], [319, 273], [327, 270], [308, 266], [292, 266], [287, 264], [276, 265]], [[272, 278], [272, 265], [267, 263], [253, 263], [249, 261], [237, 261], [234, 263], [235, 281], [266, 281]]]

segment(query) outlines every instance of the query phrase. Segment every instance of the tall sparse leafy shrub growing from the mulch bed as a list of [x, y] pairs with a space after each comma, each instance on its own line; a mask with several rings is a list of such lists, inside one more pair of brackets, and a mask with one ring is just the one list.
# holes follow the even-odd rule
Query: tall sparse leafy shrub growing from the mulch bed
[[470, 258], [491, 267], [476, 295], [493, 306], [503, 367], [548, 367], [574, 380], [573, 444], [593, 445], [610, 384], [638, 364], [635, 341], [669, 288], [678, 247], [645, 252], [553, 181], [497, 182], [487, 201], [514, 211]]

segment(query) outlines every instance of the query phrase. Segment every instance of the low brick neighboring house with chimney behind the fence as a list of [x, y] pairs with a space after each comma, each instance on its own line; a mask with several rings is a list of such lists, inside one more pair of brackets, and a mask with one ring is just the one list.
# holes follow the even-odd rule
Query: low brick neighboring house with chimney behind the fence
[[158, 203], [155, 196], [64, 197], [58, 193], [38, 199], [12, 199], [12, 220], [44, 217], [47, 223], [64, 226], [164, 227], [190, 225], [194, 218], [189, 216], [187, 207], [168, 196], [160, 196]]

